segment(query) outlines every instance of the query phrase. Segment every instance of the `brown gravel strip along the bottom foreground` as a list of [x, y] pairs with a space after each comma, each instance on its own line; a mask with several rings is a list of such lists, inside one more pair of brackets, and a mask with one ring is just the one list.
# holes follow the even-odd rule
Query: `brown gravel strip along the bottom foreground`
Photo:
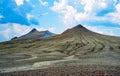
[[[101, 68], [98, 69], [98, 67]], [[64, 66], [0, 73], [0, 76], [120, 76], [120, 66]]]

